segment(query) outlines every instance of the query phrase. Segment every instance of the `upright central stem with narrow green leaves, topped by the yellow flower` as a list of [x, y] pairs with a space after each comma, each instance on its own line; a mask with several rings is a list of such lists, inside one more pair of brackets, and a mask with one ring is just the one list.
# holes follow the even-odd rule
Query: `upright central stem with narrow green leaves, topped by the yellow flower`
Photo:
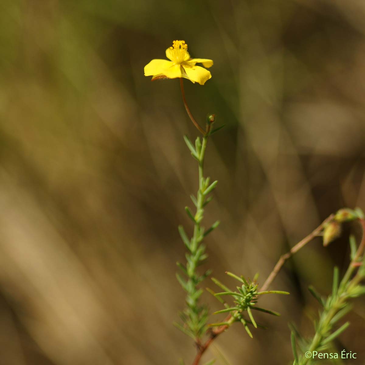
[[187, 292], [187, 306], [185, 310], [180, 313], [182, 324], [174, 323], [181, 331], [193, 338], [197, 345], [200, 345], [201, 338], [207, 331], [208, 308], [205, 304], [201, 305], [199, 303], [200, 296], [203, 293], [203, 289], [199, 288], [199, 284], [210, 275], [211, 270], [207, 270], [203, 274], [200, 274], [197, 269], [208, 257], [205, 253], [204, 239], [219, 225], [219, 221], [216, 221], [207, 230], [202, 226], [204, 209], [212, 200], [210, 193], [214, 191], [218, 183], [218, 181], [213, 181], [211, 183], [210, 177], [204, 177], [204, 157], [208, 139], [220, 128], [212, 129], [215, 121], [214, 114], [208, 115], [205, 129], [201, 128], [199, 123], [193, 118], [185, 98], [183, 78], [204, 85], [205, 81], [211, 78], [211, 73], [203, 67], [196, 66], [196, 63], [201, 62], [205, 67], [209, 68], [213, 65], [213, 61], [205, 58], [191, 59], [188, 53], [188, 45], [185, 41], [173, 41], [172, 47], [166, 49], [166, 57], [169, 58], [170, 61], [153, 59], [146, 65], [145, 76], [153, 76], [152, 80], [161, 78], [180, 79], [181, 95], [183, 97], [185, 109], [193, 124], [203, 135], [202, 138], [199, 136], [196, 138], [195, 145], [193, 145], [187, 135], [184, 136], [185, 143], [188, 146], [192, 157], [197, 162], [199, 187], [196, 195], [192, 194], [190, 196], [195, 207], [195, 213], [193, 213], [189, 207], [185, 207], [185, 212], [194, 226], [193, 236], [189, 238], [185, 233], [184, 227], [178, 227], [180, 237], [187, 249], [187, 254], [185, 264], [180, 262], [177, 263], [181, 273], [177, 273], [176, 277], [183, 289]]

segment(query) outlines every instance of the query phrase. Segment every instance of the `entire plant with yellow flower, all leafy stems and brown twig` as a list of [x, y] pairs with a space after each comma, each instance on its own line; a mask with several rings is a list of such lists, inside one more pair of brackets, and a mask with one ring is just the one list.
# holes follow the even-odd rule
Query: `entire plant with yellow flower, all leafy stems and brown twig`
[[[180, 81], [181, 95], [185, 110], [194, 126], [200, 132], [201, 136], [195, 139], [193, 144], [187, 135], [184, 136], [184, 141], [197, 163], [198, 172], [198, 188], [195, 195], [191, 195], [191, 200], [194, 206], [192, 210], [185, 207], [185, 212], [191, 219], [193, 225], [193, 235], [188, 237], [183, 226], [178, 227], [180, 237], [187, 249], [185, 255], [186, 262], [177, 262], [180, 270], [176, 274], [177, 280], [186, 294], [185, 309], [180, 313], [180, 323], [174, 323], [183, 333], [191, 337], [197, 347], [197, 353], [193, 360], [193, 365], [200, 364], [200, 360], [204, 352], [211, 345], [211, 343], [226, 331], [230, 326], [239, 322], [242, 323], [247, 334], [252, 338], [253, 335], [249, 328], [263, 327], [258, 324], [253, 316], [253, 311], [261, 311], [272, 315], [279, 315], [277, 312], [261, 308], [257, 306], [257, 302], [262, 295], [267, 294], [289, 294], [284, 291], [268, 290], [278, 272], [293, 254], [303, 248], [313, 238], [322, 235], [323, 244], [327, 246], [333, 239], [337, 238], [341, 232], [341, 224], [345, 221], [359, 220], [362, 224], [363, 231], [365, 229], [364, 215], [360, 210], [342, 209], [335, 215], [330, 215], [322, 224], [320, 224], [312, 233], [298, 242], [292, 249], [282, 255], [274, 266], [272, 272], [265, 280], [264, 284], [259, 286], [257, 283], [258, 275], [255, 275], [253, 280], [246, 279], [243, 276], [237, 276], [233, 273], [227, 274], [235, 278], [239, 282], [237, 290], [231, 290], [220, 281], [212, 278], [212, 281], [218, 285], [223, 292], [215, 293], [212, 289], [207, 288], [207, 291], [216, 297], [223, 304], [224, 309], [214, 312], [213, 314], [228, 314], [224, 320], [218, 323], [208, 324], [208, 306], [200, 302], [200, 297], [203, 294], [201, 288], [202, 281], [211, 274], [211, 270], [206, 270], [201, 273], [199, 266], [205, 262], [208, 255], [206, 253], [206, 246], [204, 244], [208, 234], [218, 227], [217, 220], [208, 229], [203, 226], [204, 210], [208, 203], [212, 200], [210, 195], [216, 188], [217, 181], [210, 181], [209, 177], [204, 176], [204, 158], [207, 149], [208, 140], [210, 137], [218, 132], [224, 125], [214, 128], [215, 115], [209, 114], [205, 121], [205, 126], [200, 124], [193, 117], [185, 98], [183, 79], [187, 79], [193, 83], [198, 82], [204, 85], [207, 80], [211, 78], [211, 73], [206, 69], [213, 65], [211, 59], [206, 58], [191, 58], [188, 53], [188, 45], [185, 41], [173, 41], [171, 47], [166, 49], [166, 59], [153, 59], [145, 66], [145, 76], [152, 76], [152, 81], [160, 79], [174, 79], [178, 78]], [[204, 67], [197, 66], [197, 63], [203, 64]], [[327, 299], [323, 299], [316, 293], [314, 288], [310, 288], [311, 293], [319, 300], [323, 306], [323, 311], [320, 314], [318, 323], [315, 324], [315, 335], [312, 339], [303, 339], [300, 337], [298, 331], [292, 331], [292, 348], [294, 354], [294, 365], [304, 365], [310, 362], [310, 359], [303, 356], [306, 351], [315, 351], [326, 348], [331, 341], [344, 331], [348, 323], [345, 323], [337, 330], [334, 326], [349, 310], [348, 301], [351, 297], [362, 295], [365, 290], [360, 282], [365, 277], [365, 269], [363, 264], [363, 253], [365, 241], [362, 239], [359, 247], [356, 249], [354, 239], [351, 238], [351, 263], [349, 269], [345, 273], [338, 284], [338, 269], [334, 271], [333, 292]], [[357, 273], [353, 276], [354, 271]], [[228, 304], [224, 298], [230, 297], [233, 301]], [[298, 355], [296, 349], [296, 338], [298, 339], [300, 354]], [[209, 361], [205, 365], [213, 364], [214, 360]], [[184, 364], [183, 360], [180, 364]]]

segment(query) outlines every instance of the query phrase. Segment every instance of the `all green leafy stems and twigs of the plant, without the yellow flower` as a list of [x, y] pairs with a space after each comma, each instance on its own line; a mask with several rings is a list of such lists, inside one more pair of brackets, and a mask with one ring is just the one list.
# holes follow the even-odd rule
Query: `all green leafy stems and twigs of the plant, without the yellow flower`
[[[186, 104], [185, 107], [188, 111]], [[191, 119], [197, 128], [203, 133], [203, 129], [197, 125], [192, 117]], [[363, 235], [365, 234], [365, 223], [363, 221], [364, 213], [360, 210], [360, 208], [356, 208], [355, 210], [343, 208], [336, 214], [328, 217], [328, 219], [326, 219], [318, 228], [316, 228], [316, 230], [314, 230], [303, 241], [299, 242], [295, 247], [293, 247], [289, 253], [283, 255], [280, 258], [278, 264], [275, 266], [273, 272], [265, 282], [266, 285], [263, 285], [263, 288], [265, 288], [264, 290], [258, 290], [258, 274], [256, 274], [254, 279], [251, 281], [250, 279], [246, 280], [246, 278], [243, 276], [237, 276], [231, 272], [227, 272], [229, 276], [233, 277], [239, 282], [240, 285], [236, 287], [237, 291], [231, 290], [219, 280], [212, 278], [212, 281], [223, 291], [215, 293], [209, 288], [207, 288], [207, 291], [214, 295], [214, 297], [224, 306], [224, 309], [216, 311], [213, 314], [226, 314], [226, 318], [222, 322], [211, 323], [209, 325], [210, 327], [215, 328], [216, 331], [214, 332], [214, 329], [211, 330], [210, 340], [208, 340], [205, 345], [202, 345], [201, 338], [208, 329], [208, 309], [207, 306], [199, 304], [199, 298], [203, 293], [203, 290], [199, 288], [199, 284], [208, 275], [210, 275], [210, 270], [207, 270], [204, 274], [199, 274], [197, 272], [197, 268], [208, 257], [208, 255], [205, 253], [205, 245], [203, 244], [204, 238], [219, 225], [219, 221], [216, 221], [206, 231], [204, 231], [204, 227], [200, 225], [204, 218], [204, 208], [212, 199], [212, 197], [208, 197], [207, 195], [214, 191], [218, 183], [218, 181], [210, 183], [210, 178], [204, 178], [203, 176], [204, 156], [208, 138], [210, 135], [223, 128], [223, 126], [221, 126], [211, 129], [211, 125], [214, 123], [214, 120], [214, 114], [207, 116], [205, 134], [203, 134], [202, 139], [200, 139], [200, 137], [196, 138], [195, 146], [187, 136], [184, 136], [185, 143], [190, 150], [191, 155], [198, 162], [199, 189], [196, 196], [190, 196], [196, 208], [195, 214], [193, 214], [189, 207], [185, 207], [188, 217], [194, 224], [193, 237], [189, 239], [183, 226], [178, 227], [180, 237], [188, 252], [186, 253], [187, 263], [185, 265], [181, 264], [180, 262], [177, 263], [178, 267], [183, 273], [183, 276], [181, 276], [180, 273], [177, 273], [176, 277], [181, 287], [183, 287], [183, 289], [187, 292], [185, 300], [187, 307], [183, 312], [180, 313], [180, 318], [183, 324], [175, 323], [175, 326], [183, 333], [193, 338], [196, 342], [198, 347], [196, 361], [198, 362], [201, 354], [203, 354], [203, 352], [207, 349], [210, 341], [212, 341], [212, 339], [214, 339], [217, 334], [229, 328], [233, 323], [241, 322], [247, 334], [251, 338], [253, 338], [253, 335], [249, 325], [253, 326], [254, 328], [264, 328], [256, 322], [253, 316], [253, 311], [261, 311], [275, 316], [280, 315], [277, 312], [258, 307], [256, 305], [258, 298], [260, 295], [266, 294], [289, 294], [288, 292], [284, 291], [265, 289], [271, 284], [273, 278], [276, 276], [278, 270], [280, 270], [285, 260], [287, 260], [287, 258], [289, 258], [293, 253], [297, 252], [312, 238], [321, 233], [323, 235], [323, 246], [327, 246], [341, 234], [342, 223], [353, 220], [361, 221]], [[314, 323], [315, 335], [310, 340], [301, 337], [299, 331], [293, 325], [291, 326], [291, 345], [294, 356], [293, 365], [305, 365], [310, 363], [312, 361], [311, 358], [307, 358], [304, 355], [307, 351], [313, 353], [313, 351], [323, 351], [324, 349], [327, 349], [331, 346], [331, 342], [350, 325], [349, 322], [345, 322], [342, 325], [337, 326], [337, 323], [351, 310], [349, 299], [365, 294], [365, 286], [360, 284], [365, 278], [365, 264], [362, 262], [364, 245], [365, 241], [361, 242], [360, 247], [357, 248], [355, 239], [350, 237], [350, 266], [340, 283], [339, 270], [337, 267], [334, 268], [332, 292], [327, 296], [327, 298], [322, 297], [313, 286], [308, 288], [310, 293], [321, 305], [322, 311], [320, 312], [319, 321]], [[358, 268], [357, 273], [355, 276], [353, 276], [353, 272], [356, 270], [356, 268]], [[223, 299], [223, 297], [226, 296], [229, 296], [233, 299], [233, 304], [230, 305]], [[297, 345], [299, 351], [297, 349]], [[194, 364], [198, 363], [196, 361]], [[214, 363], [214, 361], [215, 360], [211, 360], [205, 365], [211, 365]], [[184, 362], [181, 361], [180, 364], [184, 364]]]

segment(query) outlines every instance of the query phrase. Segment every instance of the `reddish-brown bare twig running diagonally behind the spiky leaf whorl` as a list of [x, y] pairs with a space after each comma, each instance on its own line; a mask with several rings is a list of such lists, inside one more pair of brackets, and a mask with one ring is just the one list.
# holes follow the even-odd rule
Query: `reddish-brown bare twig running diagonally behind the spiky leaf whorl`
[[[312, 231], [310, 234], [308, 234], [307, 237], [303, 238], [300, 242], [298, 242], [295, 246], [292, 247], [292, 249], [287, 252], [286, 254], [282, 255], [280, 259], [278, 260], [277, 264], [274, 266], [272, 272], [269, 274], [268, 278], [266, 279], [265, 283], [260, 288], [260, 291], [265, 291], [268, 289], [268, 287], [271, 285], [273, 280], [276, 278], [277, 274], [285, 264], [285, 262], [296, 252], [298, 252], [301, 248], [303, 248], [308, 242], [310, 242], [313, 238], [317, 237], [320, 232], [323, 230], [326, 223], [330, 222], [334, 218], [334, 214], [331, 214], [328, 216], [317, 228], [315, 228], [314, 231]], [[363, 223], [363, 222], [362, 222]], [[365, 224], [363, 224], [363, 227], [365, 227]], [[365, 245], [365, 241], [364, 241]], [[227, 316], [226, 319], [224, 319], [224, 322], [227, 322], [230, 320], [231, 315]], [[214, 341], [216, 337], [218, 337], [221, 333], [223, 333], [228, 328], [227, 325], [219, 326], [211, 330], [210, 337], [207, 339], [207, 341], [201, 345], [198, 346], [198, 352], [195, 356], [194, 362], [192, 365], [199, 365], [200, 359], [203, 356], [204, 352], [208, 349], [208, 347], [211, 345], [211, 343]]]

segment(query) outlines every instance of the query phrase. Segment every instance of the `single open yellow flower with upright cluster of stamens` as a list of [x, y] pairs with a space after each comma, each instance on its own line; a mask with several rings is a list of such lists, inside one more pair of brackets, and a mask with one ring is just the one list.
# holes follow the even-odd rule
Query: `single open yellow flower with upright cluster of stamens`
[[188, 45], [185, 41], [173, 41], [172, 47], [166, 49], [166, 57], [170, 59], [153, 59], [145, 66], [145, 76], [153, 76], [153, 80], [159, 78], [177, 78], [184, 77], [191, 82], [199, 82], [204, 85], [212, 75], [203, 67], [195, 66], [201, 62], [204, 67], [210, 68], [213, 65], [211, 59], [190, 58]]

